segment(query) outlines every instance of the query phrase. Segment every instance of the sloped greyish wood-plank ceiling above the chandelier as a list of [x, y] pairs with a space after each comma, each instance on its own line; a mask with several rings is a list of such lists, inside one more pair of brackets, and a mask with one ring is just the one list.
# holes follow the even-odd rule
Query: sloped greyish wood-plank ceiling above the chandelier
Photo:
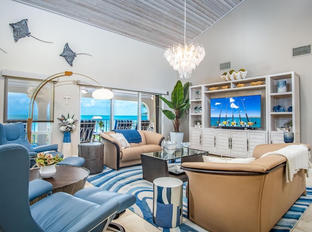
[[[15, 0], [157, 47], [184, 44], [184, 0]], [[189, 43], [244, 0], [186, 0]]]

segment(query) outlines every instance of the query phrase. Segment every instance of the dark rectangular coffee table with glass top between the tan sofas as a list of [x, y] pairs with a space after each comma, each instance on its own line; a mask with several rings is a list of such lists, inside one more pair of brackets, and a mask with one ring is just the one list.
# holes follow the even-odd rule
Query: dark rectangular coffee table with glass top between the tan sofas
[[[153, 182], [159, 177], [175, 177], [183, 182], [187, 181], [186, 174], [180, 169], [183, 162], [202, 162], [202, 156], [208, 155], [207, 151], [188, 148], [183, 151], [182, 148], [176, 149], [173, 154], [165, 151], [156, 151], [141, 154], [143, 179]], [[181, 163], [175, 163], [176, 159], [181, 159]]]

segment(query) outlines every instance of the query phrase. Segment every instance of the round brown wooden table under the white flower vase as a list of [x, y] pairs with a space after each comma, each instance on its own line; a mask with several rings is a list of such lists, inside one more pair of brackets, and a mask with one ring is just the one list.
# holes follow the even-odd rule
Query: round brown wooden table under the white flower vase
[[[34, 179], [44, 179], [53, 185], [52, 193], [65, 192], [71, 195], [84, 188], [89, 170], [77, 166], [56, 166], [57, 173], [52, 178], [42, 178], [39, 174], [40, 168], [30, 169], [29, 181]], [[31, 203], [35, 203], [43, 197], [36, 198]]]

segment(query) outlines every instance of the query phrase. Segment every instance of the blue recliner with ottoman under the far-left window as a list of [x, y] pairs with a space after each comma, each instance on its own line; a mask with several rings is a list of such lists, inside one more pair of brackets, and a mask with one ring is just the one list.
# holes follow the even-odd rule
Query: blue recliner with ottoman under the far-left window
[[[27, 139], [24, 125], [22, 123], [3, 125], [0, 123], [0, 145], [17, 143], [25, 146], [30, 156], [30, 167], [35, 165], [34, 158], [39, 152], [49, 152], [53, 156], [59, 154], [62, 158], [63, 154], [58, 151], [58, 144], [43, 145], [35, 148], [31, 148], [31, 145]], [[83, 157], [68, 157], [64, 161], [60, 161], [58, 165], [73, 165], [81, 166], [84, 163]]]

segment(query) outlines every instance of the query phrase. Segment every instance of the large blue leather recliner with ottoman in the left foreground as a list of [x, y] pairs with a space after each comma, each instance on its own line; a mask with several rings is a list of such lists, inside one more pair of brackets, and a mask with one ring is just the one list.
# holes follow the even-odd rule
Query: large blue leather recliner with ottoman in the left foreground
[[[133, 195], [98, 187], [79, 190], [74, 196], [63, 192], [51, 194], [53, 186], [47, 181], [29, 182], [29, 162], [29, 152], [24, 146], [0, 145], [0, 231], [105, 231], [118, 212], [136, 201]], [[29, 200], [44, 192], [50, 195], [29, 206]]]

